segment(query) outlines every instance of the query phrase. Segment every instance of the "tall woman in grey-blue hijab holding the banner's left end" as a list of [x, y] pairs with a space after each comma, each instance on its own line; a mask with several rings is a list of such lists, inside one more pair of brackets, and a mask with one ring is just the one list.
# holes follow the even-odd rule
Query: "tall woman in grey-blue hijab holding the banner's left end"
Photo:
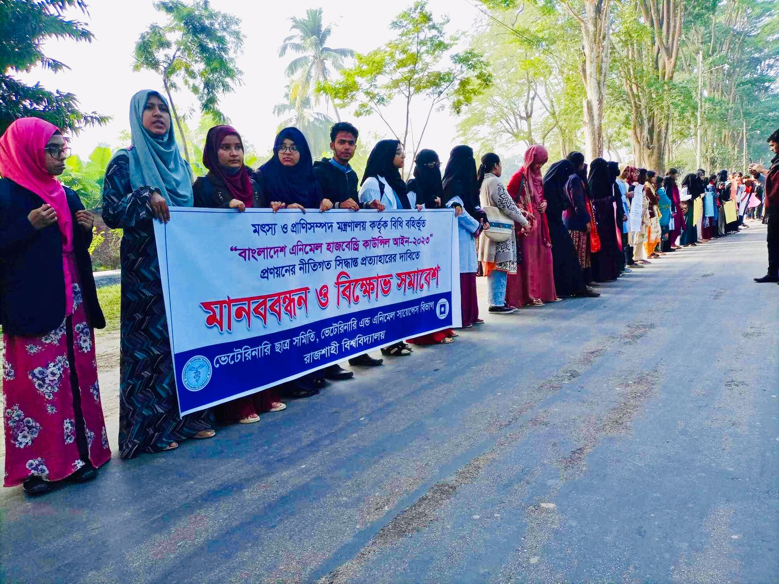
[[168, 206], [192, 206], [192, 175], [171, 130], [167, 101], [157, 91], [132, 96], [130, 135], [132, 146], [115, 153], [103, 183], [103, 220], [124, 230], [119, 385], [124, 459], [214, 435], [209, 410], [178, 414], [153, 220], [170, 220]]

